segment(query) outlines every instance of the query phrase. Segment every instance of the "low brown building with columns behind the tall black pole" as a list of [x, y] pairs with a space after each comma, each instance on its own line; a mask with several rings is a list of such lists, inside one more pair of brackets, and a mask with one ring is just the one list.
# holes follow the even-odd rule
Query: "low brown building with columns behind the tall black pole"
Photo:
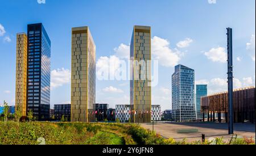
[[[255, 87], [233, 90], [233, 105], [234, 123], [255, 123]], [[228, 91], [201, 97], [201, 112], [212, 114], [206, 116], [212, 118], [209, 121], [217, 118], [221, 122], [221, 116], [225, 116], [228, 122]]]

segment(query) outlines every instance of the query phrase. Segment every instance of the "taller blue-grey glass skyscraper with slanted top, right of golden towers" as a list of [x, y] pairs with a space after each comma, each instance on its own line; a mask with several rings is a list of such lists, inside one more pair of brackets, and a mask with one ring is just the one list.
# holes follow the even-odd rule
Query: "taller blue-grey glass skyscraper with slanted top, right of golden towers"
[[173, 119], [177, 122], [196, 120], [195, 70], [183, 65], [175, 66], [172, 74]]

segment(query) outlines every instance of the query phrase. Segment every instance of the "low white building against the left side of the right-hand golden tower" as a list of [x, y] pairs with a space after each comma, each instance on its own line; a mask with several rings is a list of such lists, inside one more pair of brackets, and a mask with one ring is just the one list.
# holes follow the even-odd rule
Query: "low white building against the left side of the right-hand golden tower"
[[121, 123], [129, 122], [130, 119], [130, 105], [120, 104], [115, 105], [115, 119]]

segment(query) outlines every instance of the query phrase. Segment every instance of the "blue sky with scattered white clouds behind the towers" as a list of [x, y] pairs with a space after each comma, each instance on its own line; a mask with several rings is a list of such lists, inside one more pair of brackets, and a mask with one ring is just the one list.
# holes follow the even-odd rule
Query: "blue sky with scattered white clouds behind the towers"
[[[151, 26], [159, 83], [152, 104], [171, 108], [174, 65], [195, 69], [209, 94], [225, 91], [226, 27], [233, 28], [234, 85], [255, 86], [254, 0], [0, 0], [0, 104], [15, 102], [16, 33], [43, 23], [52, 42], [51, 105], [70, 101], [71, 28], [89, 26], [100, 62], [123, 60], [134, 25]], [[129, 81], [96, 81], [96, 102], [129, 104]]]

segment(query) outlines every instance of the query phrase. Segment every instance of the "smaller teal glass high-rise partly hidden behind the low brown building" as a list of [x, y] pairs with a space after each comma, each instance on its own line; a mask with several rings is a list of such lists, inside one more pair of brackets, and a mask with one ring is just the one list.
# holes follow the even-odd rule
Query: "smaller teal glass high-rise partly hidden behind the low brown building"
[[207, 85], [196, 85], [196, 118], [203, 119], [201, 113], [201, 97], [207, 96]]

